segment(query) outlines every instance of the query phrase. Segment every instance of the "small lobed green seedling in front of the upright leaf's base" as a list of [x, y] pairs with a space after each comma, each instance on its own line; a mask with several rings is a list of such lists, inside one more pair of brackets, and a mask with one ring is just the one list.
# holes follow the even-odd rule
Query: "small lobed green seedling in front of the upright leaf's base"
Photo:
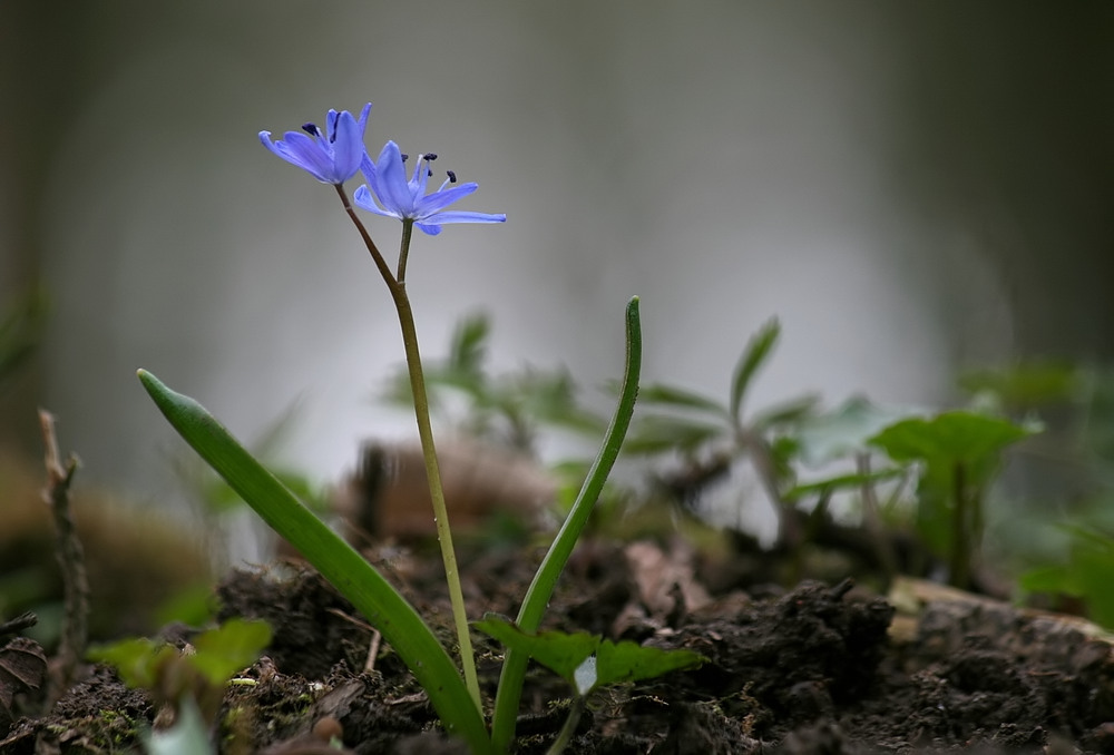
[[696, 668], [707, 660], [693, 650], [664, 650], [629, 640], [614, 643], [587, 633], [527, 633], [512, 621], [494, 615], [472, 626], [505, 647], [538, 661], [573, 688], [568, 718], [549, 748], [549, 755], [558, 755], [568, 746], [584, 712], [585, 699], [593, 690]]

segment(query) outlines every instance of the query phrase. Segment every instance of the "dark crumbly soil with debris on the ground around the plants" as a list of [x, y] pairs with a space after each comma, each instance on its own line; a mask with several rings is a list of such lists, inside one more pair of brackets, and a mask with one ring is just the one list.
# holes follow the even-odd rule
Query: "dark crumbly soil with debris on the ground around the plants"
[[[540, 556], [466, 550], [470, 616], [514, 616]], [[436, 555], [383, 548], [369, 558], [451, 636]], [[684, 546], [582, 543], [550, 628], [691, 648], [709, 660], [594, 693], [568, 752], [1114, 753], [1114, 655], [1082, 625], [917, 582], [891, 591], [890, 602], [849, 580], [789, 591], [725, 581]], [[245, 675], [257, 684], [228, 688], [221, 752], [330, 752], [315, 725], [356, 753], [465, 752], [440, 733], [398, 656], [312, 570], [237, 571], [218, 597], [221, 618], [260, 617], [274, 628]], [[483, 693], [494, 697], [500, 650], [476, 641]], [[546, 751], [568, 696], [564, 682], [531, 670], [519, 753]], [[141, 725], [167, 715], [94, 667], [47, 715], [19, 718], [7, 733], [0, 722], [0, 753], [124, 752]]]

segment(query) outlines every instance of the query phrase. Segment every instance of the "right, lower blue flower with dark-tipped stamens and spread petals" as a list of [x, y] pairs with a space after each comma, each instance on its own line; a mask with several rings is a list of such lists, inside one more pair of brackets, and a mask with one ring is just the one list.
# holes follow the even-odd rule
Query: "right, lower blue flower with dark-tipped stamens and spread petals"
[[[488, 213], [471, 213], [466, 210], [446, 210], [444, 208], [468, 196], [478, 184], [460, 184], [451, 170], [449, 178], [432, 194], [426, 194], [426, 184], [432, 171], [429, 164], [437, 155], [419, 155], [414, 166], [413, 178], [407, 180], [405, 167], [402, 165], [405, 156], [399, 151], [399, 146], [388, 141], [379, 160], [372, 163], [365, 158], [360, 169], [368, 178], [368, 184], [355, 190], [355, 204], [377, 215], [395, 217], [403, 223], [412, 222], [430, 236], [441, 233], [446, 223], [506, 223], [507, 216]], [[368, 186], [371, 186], [369, 190]]]

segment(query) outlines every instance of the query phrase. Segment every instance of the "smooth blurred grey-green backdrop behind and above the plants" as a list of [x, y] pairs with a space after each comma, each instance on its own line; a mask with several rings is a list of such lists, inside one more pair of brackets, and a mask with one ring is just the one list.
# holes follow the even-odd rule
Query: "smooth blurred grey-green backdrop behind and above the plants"
[[416, 238], [430, 357], [482, 310], [495, 367], [597, 386], [637, 294], [646, 379], [719, 395], [780, 317], [756, 404], [1108, 359], [1112, 39], [1105, 0], [9, 0], [0, 305], [48, 310], [0, 445], [37, 457], [45, 406], [82, 481], [166, 496], [183, 449], [139, 366], [248, 440], [296, 405], [283, 455], [320, 481], [413, 434], [374, 401], [402, 352], [367, 252], [256, 138], [369, 100], [372, 154], [437, 151], [509, 218]]

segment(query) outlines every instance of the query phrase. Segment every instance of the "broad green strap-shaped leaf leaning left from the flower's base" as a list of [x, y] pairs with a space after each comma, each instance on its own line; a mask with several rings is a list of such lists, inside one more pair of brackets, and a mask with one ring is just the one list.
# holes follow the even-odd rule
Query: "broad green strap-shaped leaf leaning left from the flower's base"
[[138, 374], [155, 404], [202, 459], [382, 633], [426, 689], [446, 728], [462, 737], [473, 753], [491, 752], [483, 719], [459, 670], [413, 607], [204, 406], [175, 393], [145, 370]]

